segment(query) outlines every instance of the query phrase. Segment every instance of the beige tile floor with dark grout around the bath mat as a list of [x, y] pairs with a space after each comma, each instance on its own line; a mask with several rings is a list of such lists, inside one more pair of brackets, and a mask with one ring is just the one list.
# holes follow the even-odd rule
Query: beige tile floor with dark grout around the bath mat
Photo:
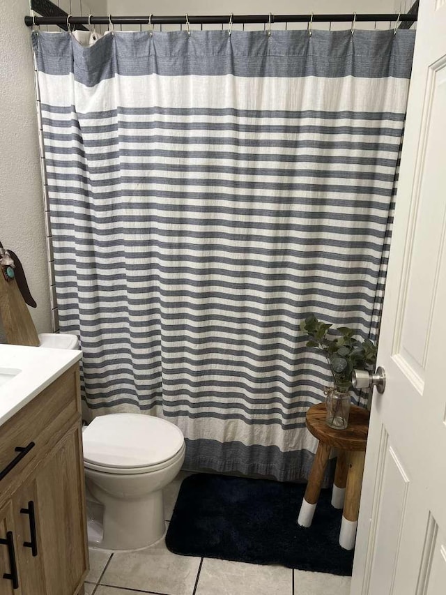
[[[166, 520], [174, 509], [180, 473], [164, 492]], [[350, 578], [177, 556], [164, 540], [139, 552], [90, 550], [86, 595], [348, 595]]]

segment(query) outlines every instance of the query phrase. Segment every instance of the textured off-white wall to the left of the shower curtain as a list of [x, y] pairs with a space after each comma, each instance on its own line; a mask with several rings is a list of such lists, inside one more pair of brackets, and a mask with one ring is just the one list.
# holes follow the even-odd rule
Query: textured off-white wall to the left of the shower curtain
[[0, 240], [19, 255], [39, 332], [51, 330], [28, 0], [0, 2]]

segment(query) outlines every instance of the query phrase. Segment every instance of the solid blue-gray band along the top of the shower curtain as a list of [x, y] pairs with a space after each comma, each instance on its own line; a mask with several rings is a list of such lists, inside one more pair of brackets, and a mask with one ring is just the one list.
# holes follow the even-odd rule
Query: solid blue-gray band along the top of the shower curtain
[[[39, 36], [40, 37], [39, 37]], [[413, 31], [177, 31], [112, 33], [92, 47], [57, 38], [33, 36], [40, 72], [67, 75], [95, 86], [121, 76], [238, 77], [408, 77]], [[218, 61], [215, 60], [218, 57]]]

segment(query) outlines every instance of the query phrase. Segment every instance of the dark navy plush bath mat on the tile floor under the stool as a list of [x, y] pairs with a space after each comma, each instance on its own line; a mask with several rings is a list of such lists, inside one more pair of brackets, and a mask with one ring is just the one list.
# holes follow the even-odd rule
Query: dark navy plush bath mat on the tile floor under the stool
[[312, 527], [297, 518], [305, 484], [197, 474], [180, 488], [166, 536], [171, 552], [351, 575], [353, 552], [338, 543], [342, 511], [322, 490]]

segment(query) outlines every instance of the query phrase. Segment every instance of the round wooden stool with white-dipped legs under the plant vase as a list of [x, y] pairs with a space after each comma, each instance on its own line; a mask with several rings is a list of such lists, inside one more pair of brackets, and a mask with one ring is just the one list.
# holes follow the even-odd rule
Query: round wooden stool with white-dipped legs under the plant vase
[[309, 475], [307, 490], [300, 507], [298, 524], [310, 527], [321, 485], [332, 448], [338, 450], [336, 472], [332, 492], [332, 506], [344, 509], [342, 513], [339, 545], [353, 550], [355, 545], [357, 515], [360, 509], [362, 474], [365, 449], [369, 431], [369, 412], [362, 407], [351, 406], [348, 427], [334, 430], [325, 423], [325, 403], [313, 405], [307, 411], [307, 428], [319, 441]]

